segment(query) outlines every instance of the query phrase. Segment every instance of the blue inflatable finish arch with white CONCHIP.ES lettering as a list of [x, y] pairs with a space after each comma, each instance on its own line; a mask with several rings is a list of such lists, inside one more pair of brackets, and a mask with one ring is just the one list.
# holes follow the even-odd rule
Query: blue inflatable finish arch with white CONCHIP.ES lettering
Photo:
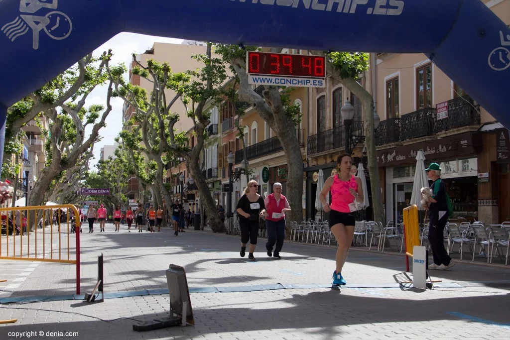
[[0, 151], [9, 106], [120, 32], [424, 53], [510, 127], [510, 29], [479, 0], [0, 0], [0, 29]]

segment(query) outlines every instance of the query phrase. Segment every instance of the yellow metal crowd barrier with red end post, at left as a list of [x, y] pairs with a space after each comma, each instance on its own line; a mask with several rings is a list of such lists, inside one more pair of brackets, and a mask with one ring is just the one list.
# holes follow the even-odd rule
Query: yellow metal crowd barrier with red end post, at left
[[[16, 218], [16, 212], [19, 212], [18, 218]], [[63, 212], [66, 214], [64, 215]], [[71, 212], [74, 213], [74, 220], [72, 220]], [[75, 265], [76, 293], [80, 294], [80, 214], [78, 209], [72, 204], [6, 207], [0, 208], [0, 214], [2, 215], [0, 259]], [[72, 233], [75, 233], [74, 257], [71, 256]], [[58, 241], [56, 244], [58, 250], [54, 250], [54, 240]]]

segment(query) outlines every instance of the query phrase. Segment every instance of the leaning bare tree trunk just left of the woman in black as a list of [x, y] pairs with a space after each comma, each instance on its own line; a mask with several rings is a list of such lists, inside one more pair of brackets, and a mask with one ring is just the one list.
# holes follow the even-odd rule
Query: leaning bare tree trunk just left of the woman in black
[[[193, 155], [194, 154], [195, 153], [193, 153]], [[214, 205], [214, 200], [211, 196], [211, 192], [209, 191], [209, 186], [207, 185], [206, 179], [202, 176], [202, 172], [200, 171], [198, 159], [193, 156], [190, 157], [190, 159], [187, 160], [186, 166], [195, 179], [195, 184], [200, 193], [200, 200], [202, 202], [202, 206], [205, 208], [211, 229], [213, 232], [224, 232], [224, 226], [223, 223], [221, 223], [218, 211]], [[203, 221], [203, 214], [200, 216], [200, 219]]]

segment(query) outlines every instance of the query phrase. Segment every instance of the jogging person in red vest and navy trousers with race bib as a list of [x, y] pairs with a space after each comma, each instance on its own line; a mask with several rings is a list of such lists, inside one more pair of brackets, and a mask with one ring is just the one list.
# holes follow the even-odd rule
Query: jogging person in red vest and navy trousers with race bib
[[[280, 251], [282, 251], [285, 239], [285, 213], [290, 212], [289, 202], [282, 195], [281, 183], [276, 182], [273, 184], [273, 193], [266, 197], [264, 204], [266, 205], [264, 217], [267, 229], [267, 256], [281, 258]], [[275, 244], [276, 247], [273, 253], [273, 246]]]

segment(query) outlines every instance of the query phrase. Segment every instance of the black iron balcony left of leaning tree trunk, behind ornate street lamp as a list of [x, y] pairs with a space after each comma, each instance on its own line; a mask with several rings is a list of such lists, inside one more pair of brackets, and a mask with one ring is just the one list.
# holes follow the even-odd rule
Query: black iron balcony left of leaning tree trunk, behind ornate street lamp
[[[356, 120], [351, 123], [351, 134], [363, 136], [363, 122]], [[345, 148], [345, 125], [321, 131], [316, 135], [308, 136], [307, 154], [316, 154], [335, 149]]]

